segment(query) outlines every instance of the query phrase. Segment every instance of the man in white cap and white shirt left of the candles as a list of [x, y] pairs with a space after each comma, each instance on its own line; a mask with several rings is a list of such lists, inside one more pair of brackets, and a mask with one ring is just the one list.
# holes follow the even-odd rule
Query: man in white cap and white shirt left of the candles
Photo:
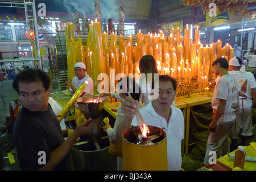
[[93, 95], [93, 80], [87, 75], [86, 67], [84, 63], [78, 62], [74, 65], [76, 77], [73, 77], [72, 81], [67, 81], [66, 84], [70, 86], [69, 91], [73, 94], [82, 84], [87, 81], [85, 86], [85, 94]]

